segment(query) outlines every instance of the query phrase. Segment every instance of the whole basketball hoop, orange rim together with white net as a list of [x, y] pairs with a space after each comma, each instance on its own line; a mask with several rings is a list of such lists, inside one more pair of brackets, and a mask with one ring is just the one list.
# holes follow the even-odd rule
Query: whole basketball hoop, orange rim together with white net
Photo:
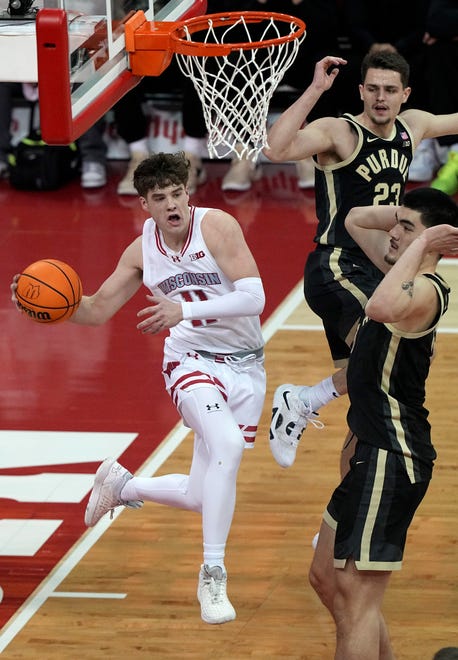
[[268, 12], [207, 14], [172, 29], [171, 50], [202, 103], [210, 156], [256, 162], [268, 146], [273, 93], [304, 37], [299, 18]]

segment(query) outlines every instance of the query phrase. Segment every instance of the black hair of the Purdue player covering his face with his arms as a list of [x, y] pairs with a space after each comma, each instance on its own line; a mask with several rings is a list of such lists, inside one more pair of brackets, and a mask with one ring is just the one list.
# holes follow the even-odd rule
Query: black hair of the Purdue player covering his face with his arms
[[403, 206], [420, 214], [425, 227], [452, 225], [458, 227], [458, 206], [442, 190], [435, 188], [414, 188], [404, 195]]

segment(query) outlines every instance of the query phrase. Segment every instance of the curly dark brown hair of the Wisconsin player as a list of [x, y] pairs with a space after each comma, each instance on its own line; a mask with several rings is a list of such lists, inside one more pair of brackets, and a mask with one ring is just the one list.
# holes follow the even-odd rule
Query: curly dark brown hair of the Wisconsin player
[[175, 154], [158, 153], [145, 158], [135, 169], [134, 187], [141, 197], [150, 190], [166, 186], [186, 186], [190, 162], [184, 151]]

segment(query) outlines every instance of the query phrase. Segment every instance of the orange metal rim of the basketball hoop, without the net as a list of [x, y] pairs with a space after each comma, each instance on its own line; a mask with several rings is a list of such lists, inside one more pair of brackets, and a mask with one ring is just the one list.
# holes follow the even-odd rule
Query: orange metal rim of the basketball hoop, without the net
[[[214, 27], [230, 26], [236, 23], [240, 18], [244, 18], [245, 23], [261, 23], [262, 21], [269, 21], [274, 19], [278, 23], [289, 23], [294, 25], [296, 29], [290, 34], [275, 37], [273, 39], [266, 39], [265, 41], [247, 41], [238, 43], [222, 43], [213, 44], [205, 43], [203, 41], [188, 41], [187, 33], [194, 35], [196, 32], [207, 30], [209, 21]], [[186, 32], [186, 29], [187, 32]], [[256, 48], [268, 48], [269, 46], [278, 46], [288, 41], [299, 39], [305, 32], [305, 23], [296, 16], [289, 16], [288, 14], [279, 14], [277, 12], [265, 11], [238, 11], [226, 12], [220, 14], [204, 14], [203, 16], [196, 16], [186, 21], [176, 23], [172, 29], [170, 37], [173, 44], [173, 50], [181, 55], [195, 55], [201, 57], [218, 57], [221, 55], [228, 55], [235, 50], [254, 50]], [[204, 35], [205, 36], [205, 35]]]

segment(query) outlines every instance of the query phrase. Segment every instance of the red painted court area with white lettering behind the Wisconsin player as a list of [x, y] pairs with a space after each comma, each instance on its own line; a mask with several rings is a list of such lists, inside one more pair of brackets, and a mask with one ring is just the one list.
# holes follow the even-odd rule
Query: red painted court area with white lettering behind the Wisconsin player
[[[36, 193], [0, 182], [0, 627], [84, 533], [104, 456], [121, 456], [135, 472], [179, 420], [161, 375], [164, 337], [136, 330], [146, 289], [100, 328], [39, 325], [10, 301], [12, 276], [37, 259], [71, 264], [86, 293], [109, 275], [145, 219], [135, 197], [116, 194], [125, 167], [112, 162], [108, 185], [91, 192], [78, 179]], [[313, 191], [297, 188], [292, 165], [267, 164], [252, 190], [223, 193], [227, 167], [212, 163], [191, 202], [239, 220], [264, 280], [265, 321], [302, 277]]]

